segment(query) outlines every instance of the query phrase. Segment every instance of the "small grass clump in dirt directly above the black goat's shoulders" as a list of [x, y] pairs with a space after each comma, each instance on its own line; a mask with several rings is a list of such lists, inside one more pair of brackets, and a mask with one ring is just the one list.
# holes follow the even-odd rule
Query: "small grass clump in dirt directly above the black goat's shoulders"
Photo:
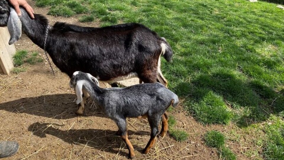
[[67, 6], [52, 6], [50, 11], [47, 13], [49, 15], [53, 15], [53, 16], [63, 16], [63, 17], [70, 17], [72, 15], [75, 14], [74, 11], [72, 11], [72, 9], [70, 9]]

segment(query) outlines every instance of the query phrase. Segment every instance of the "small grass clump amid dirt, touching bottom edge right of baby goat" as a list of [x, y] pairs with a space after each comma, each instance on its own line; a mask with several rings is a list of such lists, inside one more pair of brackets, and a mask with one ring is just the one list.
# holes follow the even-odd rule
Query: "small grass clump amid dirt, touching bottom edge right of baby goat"
[[204, 135], [205, 144], [212, 148], [217, 148], [221, 159], [235, 160], [235, 154], [225, 147], [225, 136], [219, 131], [208, 131]]

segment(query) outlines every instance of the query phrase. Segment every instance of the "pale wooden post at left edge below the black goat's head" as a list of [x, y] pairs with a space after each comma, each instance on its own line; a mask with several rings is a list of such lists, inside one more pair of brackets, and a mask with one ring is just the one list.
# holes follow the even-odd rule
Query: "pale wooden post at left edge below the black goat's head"
[[0, 74], [9, 74], [14, 67], [12, 57], [16, 52], [14, 45], [9, 45], [10, 34], [7, 27], [0, 27]]

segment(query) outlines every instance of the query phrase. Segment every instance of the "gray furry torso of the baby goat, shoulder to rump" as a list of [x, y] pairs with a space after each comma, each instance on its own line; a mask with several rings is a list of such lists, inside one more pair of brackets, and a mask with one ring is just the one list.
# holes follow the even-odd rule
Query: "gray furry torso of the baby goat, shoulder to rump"
[[162, 114], [172, 104], [178, 103], [178, 96], [160, 83], [137, 84], [125, 88], [107, 88], [101, 101], [108, 116], [119, 113], [125, 117], [143, 114]]

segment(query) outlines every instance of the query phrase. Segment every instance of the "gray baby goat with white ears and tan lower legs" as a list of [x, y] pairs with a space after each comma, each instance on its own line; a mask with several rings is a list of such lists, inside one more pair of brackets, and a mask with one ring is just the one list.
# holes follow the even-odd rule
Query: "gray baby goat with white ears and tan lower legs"
[[148, 153], [155, 143], [162, 118], [161, 136], [168, 129], [167, 108], [178, 104], [178, 96], [160, 83], [137, 84], [125, 88], [100, 88], [99, 81], [89, 73], [74, 72], [70, 87], [75, 88], [77, 104], [83, 101], [83, 89], [103, 108], [106, 116], [115, 121], [117, 134], [124, 140], [129, 158], [135, 157], [133, 146], [128, 140], [126, 118], [148, 118], [151, 127], [151, 138], [143, 150]]

